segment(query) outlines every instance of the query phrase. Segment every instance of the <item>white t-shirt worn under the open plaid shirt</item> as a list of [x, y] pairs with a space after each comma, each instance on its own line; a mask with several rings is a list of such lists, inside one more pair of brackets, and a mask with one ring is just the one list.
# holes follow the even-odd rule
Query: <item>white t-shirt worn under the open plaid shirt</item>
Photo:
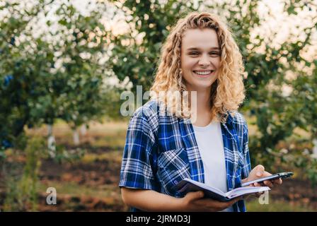
[[[204, 183], [227, 192], [226, 161], [220, 123], [212, 121], [208, 126], [192, 126], [204, 165]], [[233, 208], [231, 206], [223, 211], [233, 211]]]

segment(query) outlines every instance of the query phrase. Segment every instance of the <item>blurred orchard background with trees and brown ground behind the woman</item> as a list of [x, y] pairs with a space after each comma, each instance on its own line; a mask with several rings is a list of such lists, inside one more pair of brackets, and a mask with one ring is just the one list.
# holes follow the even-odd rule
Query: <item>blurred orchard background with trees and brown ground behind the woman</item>
[[1, 0], [1, 211], [128, 210], [120, 95], [149, 90], [190, 11], [219, 14], [241, 49], [252, 165], [295, 173], [248, 210], [317, 210], [317, 1]]

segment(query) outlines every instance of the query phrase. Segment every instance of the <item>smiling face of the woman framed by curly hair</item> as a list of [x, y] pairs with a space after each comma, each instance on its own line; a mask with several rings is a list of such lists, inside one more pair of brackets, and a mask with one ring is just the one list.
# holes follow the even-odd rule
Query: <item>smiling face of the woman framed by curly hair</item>
[[210, 89], [220, 66], [217, 32], [209, 28], [186, 30], [180, 64], [188, 90]]

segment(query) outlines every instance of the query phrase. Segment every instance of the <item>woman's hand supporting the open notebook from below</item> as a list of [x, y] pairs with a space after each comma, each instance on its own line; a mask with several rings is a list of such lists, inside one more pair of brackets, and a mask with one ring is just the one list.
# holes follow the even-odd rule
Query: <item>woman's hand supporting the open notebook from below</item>
[[182, 198], [183, 207], [185, 211], [221, 211], [234, 205], [242, 197], [235, 198], [228, 202], [216, 201], [212, 198], [204, 198], [204, 192], [195, 191], [189, 192]]

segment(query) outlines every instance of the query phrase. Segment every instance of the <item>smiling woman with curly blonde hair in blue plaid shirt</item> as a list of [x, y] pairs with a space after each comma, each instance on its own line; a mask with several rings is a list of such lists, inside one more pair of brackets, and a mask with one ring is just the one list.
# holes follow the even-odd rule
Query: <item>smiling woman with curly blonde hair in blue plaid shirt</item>
[[172, 189], [190, 178], [226, 192], [270, 175], [262, 165], [250, 170], [248, 126], [237, 112], [245, 97], [242, 73], [238, 46], [217, 16], [178, 20], [163, 45], [151, 88], [156, 97], [129, 121], [119, 186], [132, 210], [246, 211], [241, 198], [223, 203]]

